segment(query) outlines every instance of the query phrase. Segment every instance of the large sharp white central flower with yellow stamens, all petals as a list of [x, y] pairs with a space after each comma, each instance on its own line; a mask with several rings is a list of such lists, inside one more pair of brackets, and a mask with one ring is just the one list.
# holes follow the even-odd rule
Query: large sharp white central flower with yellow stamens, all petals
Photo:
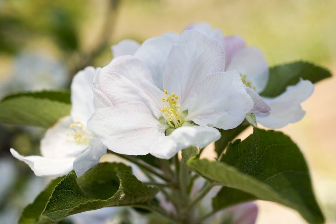
[[107, 107], [96, 110], [88, 128], [109, 149], [169, 159], [183, 148], [204, 147], [219, 139], [212, 127], [235, 128], [253, 107], [239, 73], [224, 72], [224, 49], [217, 40], [184, 31], [171, 46], [161, 74], [150, 71], [161, 71], [162, 64], [146, 66], [138, 52], [138, 58], [117, 57], [97, 72], [95, 97]]

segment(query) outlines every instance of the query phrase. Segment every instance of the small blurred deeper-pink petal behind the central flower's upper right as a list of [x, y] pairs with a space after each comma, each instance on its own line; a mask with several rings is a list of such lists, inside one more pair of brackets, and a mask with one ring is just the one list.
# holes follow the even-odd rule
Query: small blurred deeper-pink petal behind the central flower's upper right
[[224, 38], [224, 50], [225, 50], [225, 67], [231, 61], [232, 56], [239, 49], [245, 48], [246, 43], [244, 39], [238, 35], [227, 36]]

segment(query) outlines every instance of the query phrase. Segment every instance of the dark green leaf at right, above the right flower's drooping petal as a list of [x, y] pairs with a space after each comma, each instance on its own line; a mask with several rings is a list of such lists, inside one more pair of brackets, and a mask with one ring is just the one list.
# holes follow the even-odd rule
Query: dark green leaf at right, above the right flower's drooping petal
[[331, 77], [330, 71], [309, 62], [297, 61], [270, 68], [266, 88], [260, 94], [267, 97], [279, 96], [287, 86], [295, 85], [300, 78], [317, 83]]

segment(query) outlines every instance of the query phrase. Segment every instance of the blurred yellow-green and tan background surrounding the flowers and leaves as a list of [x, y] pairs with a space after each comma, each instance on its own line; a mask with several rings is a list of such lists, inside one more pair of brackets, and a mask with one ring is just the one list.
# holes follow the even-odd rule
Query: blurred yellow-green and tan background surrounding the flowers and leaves
[[[335, 8], [334, 0], [0, 0], [0, 98], [19, 91], [69, 91], [76, 72], [109, 63], [112, 44], [181, 32], [200, 21], [258, 46], [270, 66], [307, 60], [335, 74]], [[282, 130], [307, 159], [327, 223], [336, 223], [335, 86], [335, 77], [318, 83], [302, 104], [304, 119]], [[38, 128], [0, 126], [1, 223], [16, 223], [20, 210], [48, 182], [9, 154], [10, 147], [39, 154], [43, 134]], [[291, 209], [257, 204], [258, 224], [305, 223]]]

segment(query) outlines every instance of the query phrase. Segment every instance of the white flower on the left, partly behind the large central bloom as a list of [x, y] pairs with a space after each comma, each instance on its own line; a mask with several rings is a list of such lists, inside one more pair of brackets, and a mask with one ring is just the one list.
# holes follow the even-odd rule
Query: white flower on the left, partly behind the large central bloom
[[63, 176], [74, 169], [79, 177], [106, 153], [106, 146], [86, 128], [94, 112], [92, 82], [95, 73], [94, 68], [87, 67], [73, 78], [71, 115], [61, 118], [47, 130], [41, 140], [42, 156], [22, 156], [10, 149], [12, 155], [28, 164], [35, 175]]

